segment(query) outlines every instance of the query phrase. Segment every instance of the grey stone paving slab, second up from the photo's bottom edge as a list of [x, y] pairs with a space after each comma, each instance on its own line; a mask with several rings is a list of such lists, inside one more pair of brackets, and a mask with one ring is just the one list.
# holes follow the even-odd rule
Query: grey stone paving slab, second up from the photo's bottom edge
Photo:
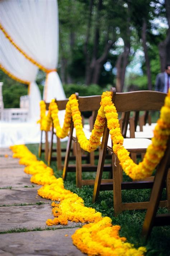
[[[0, 232], [11, 229], [26, 228], [33, 230], [35, 228], [46, 229], [47, 219], [54, 219], [51, 205], [27, 205], [0, 207]], [[81, 226], [81, 223], [68, 222], [68, 225], [57, 225], [54, 228], [70, 228]]]

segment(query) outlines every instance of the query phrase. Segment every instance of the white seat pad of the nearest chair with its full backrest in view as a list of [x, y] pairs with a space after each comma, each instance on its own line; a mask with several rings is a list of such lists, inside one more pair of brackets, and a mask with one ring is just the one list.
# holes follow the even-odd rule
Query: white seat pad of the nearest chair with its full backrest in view
[[[151, 140], [150, 139], [124, 139], [123, 140], [123, 146], [126, 149], [146, 149], [150, 144], [151, 144]], [[109, 135], [109, 139], [108, 139], [108, 147], [112, 147], [112, 140], [110, 138]]]

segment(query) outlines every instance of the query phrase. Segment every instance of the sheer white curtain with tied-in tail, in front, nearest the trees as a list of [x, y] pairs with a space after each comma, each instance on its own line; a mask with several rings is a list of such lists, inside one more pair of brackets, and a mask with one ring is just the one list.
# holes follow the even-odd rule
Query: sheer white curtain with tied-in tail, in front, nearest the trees
[[[46, 69], [58, 64], [58, 6], [56, 0], [1, 0], [0, 22], [29, 57]], [[65, 99], [59, 76], [50, 73], [44, 90], [46, 102]], [[49, 92], [49, 93], [48, 93]], [[45, 95], [45, 94], [44, 94]]]

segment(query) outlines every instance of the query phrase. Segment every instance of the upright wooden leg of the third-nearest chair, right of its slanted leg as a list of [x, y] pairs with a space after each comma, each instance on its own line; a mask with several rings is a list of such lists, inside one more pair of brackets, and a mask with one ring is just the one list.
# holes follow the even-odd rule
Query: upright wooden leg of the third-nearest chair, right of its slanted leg
[[76, 138], [76, 186], [82, 187], [81, 147]]

